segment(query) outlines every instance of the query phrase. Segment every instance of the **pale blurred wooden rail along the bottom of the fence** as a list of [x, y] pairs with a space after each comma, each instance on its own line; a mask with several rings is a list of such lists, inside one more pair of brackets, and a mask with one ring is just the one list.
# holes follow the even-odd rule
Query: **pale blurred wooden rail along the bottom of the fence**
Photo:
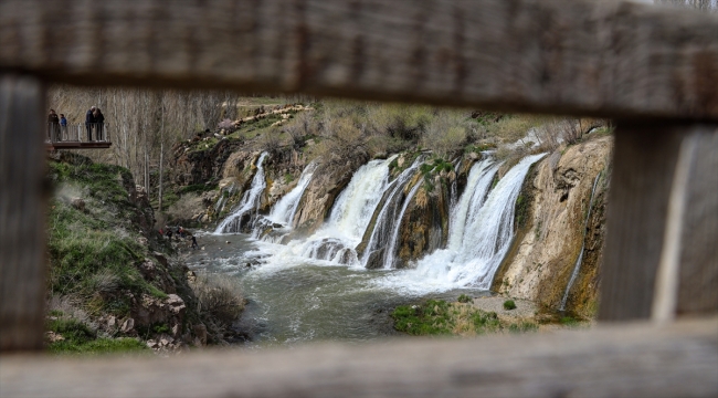
[[0, 358], [8, 397], [715, 397], [718, 322], [161, 358]]

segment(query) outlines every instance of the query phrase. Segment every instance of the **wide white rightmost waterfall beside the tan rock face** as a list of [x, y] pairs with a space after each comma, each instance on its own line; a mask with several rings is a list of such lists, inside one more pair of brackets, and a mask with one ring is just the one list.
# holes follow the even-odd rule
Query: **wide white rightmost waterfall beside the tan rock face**
[[[453, 214], [453, 227], [450, 227], [450, 237], [453, 238], [450, 247], [423, 258], [415, 269], [388, 275], [378, 283], [416, 293], [469, 286], [488, 290], [514, 237], [514, 210], [524, 179], [531, 165], [543, 155], [526, 157], [514, 166], [485, 202], [485, 187], [487, 181], [490, 184], [497, 166], [488, 170], [485, 163], [474, 166], [472, 171], [475, 171], [479, 176], [471, 178], [476, 181], [474, 190], [467, 186], [462, 195]], [[464, 210], [466, 196], [471, 199], [467, 200], [468, 209]], [[466, 213], [465, 223], [460, 221], [462, 213]], [[463, 232], [460, 232], [462, 224]]]

